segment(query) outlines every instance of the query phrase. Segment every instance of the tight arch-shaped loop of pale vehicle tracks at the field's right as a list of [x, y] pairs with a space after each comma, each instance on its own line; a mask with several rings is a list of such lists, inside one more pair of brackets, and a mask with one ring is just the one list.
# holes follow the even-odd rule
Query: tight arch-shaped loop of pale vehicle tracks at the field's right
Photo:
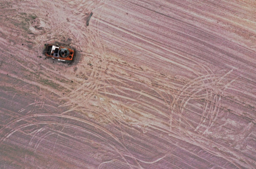
[[[206, 118], [209, 118], [210, 121], [208, 123], [208, 127], [203, 132], [203, 134], [205, 134], [205, 132], [209, 130], [209, 127], [211, 127], [214, 124], [214, 122], [217, 118], [216, 115], [218, 115], [218, 113], [220, 111], [221, 95], [223, 95], [223, 91], [226, 89], [226, 85], [231, 84], [231, 83], [225, 84], [224, 82], [221, 82], [221, 81], [227, 75], [229, 75], [231, 72], [232, 72], [232, 70], [227, 72], [224, 75], [218, 75], [218, 74], [203, 75], [203, 76], [196, 78], [196, 79], [190, 81], [189, 83], [187, 83], [181, 90], [182, 92], [179, 94], [178, 97], [176, 97], [174, 99], [174, 101], [172, 103], [173, 106], [172, 106], [171, 117], [173, 116], [174, 109], [176, 109], [176, 111], [178, 110], [178, 113], [183, 114], [185, 107], [190, 100], [203, 100], [204, 105], [203, 105], [203, 109], [202, 109], [203, 111], [202, 111], [201, 119], [200, 119], [198, 126], [194, 129], [194, 131], [197, 131], [199, 129], [199, 127], [202, 125], [202, 122], [204, 123]], [[207, 80], [208, 82], [205, 83], [204, 82], [205, 80]], [[234, 80], [232, 80], [232, 82], [233, 81]], [[189, 91], [189, 93], [184, 95], [185, 91]], [[205, 92], [205, 91], [206, 91], [205, 94], [203, 94], [203, 95], [201, 94], [201, 96], [198, 95], [199, 93]], [[210, 91], [210, 95], [209, 95], [208, 91]], [[183, 99], [180, 101], [180, 103], [178, 103], [180, 97], [183, 97]], [[205, 100], [206, 100], [206, 102], [205, 102]], [[207, 108], [208, 104], [210, 104], [209, 110]], [[205, 112], [207, 112], [207, 113], [205, 114]], [[209, 115], [210, 115], [210, 117], [209, 117]], [[205, 119], [203, 119], [203, 117], [205, 117]], [[188, 119], [187, 120], [184, 119], [184, 120], [187, 121]], [[179, 115], [179, 122], [181, 123], [180, 115]], [[187, 121], [187, 122], [189, 122], [189, 121]]]

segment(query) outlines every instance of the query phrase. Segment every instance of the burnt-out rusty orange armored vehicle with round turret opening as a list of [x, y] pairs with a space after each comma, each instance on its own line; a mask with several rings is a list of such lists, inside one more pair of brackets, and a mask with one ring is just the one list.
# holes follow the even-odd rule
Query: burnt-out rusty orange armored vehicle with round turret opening
[[75, 50], [63, 43], [54, 42], [45, 44], [43, 54], [58, 61], [73, 62]]

